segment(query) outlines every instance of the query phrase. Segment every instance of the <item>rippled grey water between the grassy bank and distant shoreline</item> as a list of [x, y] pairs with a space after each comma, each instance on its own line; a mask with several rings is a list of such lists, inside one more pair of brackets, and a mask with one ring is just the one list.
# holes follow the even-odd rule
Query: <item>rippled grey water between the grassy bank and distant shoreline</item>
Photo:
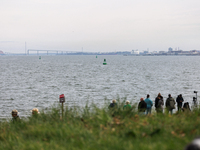
[[118, 95], [132, 104], [146, 94], [154, 101], [159, 92], [164, 100], [169, 93], [182, 94], [192, 104], [193, 91], [200, 89], [199, 61], [198, 56], [1, 56], [0, 118], [10, 117], [12, 109], [26, 116], [32, 108], [48, 108], [60, 94], [69, 106], [86, 101], [102, 106], [105, 97]]

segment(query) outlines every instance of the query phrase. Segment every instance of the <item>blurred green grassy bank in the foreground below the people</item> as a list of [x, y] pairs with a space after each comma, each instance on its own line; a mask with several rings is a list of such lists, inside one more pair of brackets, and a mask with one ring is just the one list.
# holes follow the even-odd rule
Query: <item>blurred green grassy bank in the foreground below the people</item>
[[138, 116], [134, 106], [124, 111], [120, 105], [115, 112], [107, 106], [66, 107], [62, 120], [60, 109], [52, 108], [20, 122], [1, 122], [0, 149], [182, 150], [200, 135], [198, 109]]

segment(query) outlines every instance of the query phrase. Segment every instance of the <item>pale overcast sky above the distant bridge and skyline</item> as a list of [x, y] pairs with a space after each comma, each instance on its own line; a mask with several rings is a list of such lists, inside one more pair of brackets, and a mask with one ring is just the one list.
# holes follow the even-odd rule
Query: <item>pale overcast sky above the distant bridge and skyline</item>
[[0, 50], [200, 50], [200, 0], [1, 0]]

